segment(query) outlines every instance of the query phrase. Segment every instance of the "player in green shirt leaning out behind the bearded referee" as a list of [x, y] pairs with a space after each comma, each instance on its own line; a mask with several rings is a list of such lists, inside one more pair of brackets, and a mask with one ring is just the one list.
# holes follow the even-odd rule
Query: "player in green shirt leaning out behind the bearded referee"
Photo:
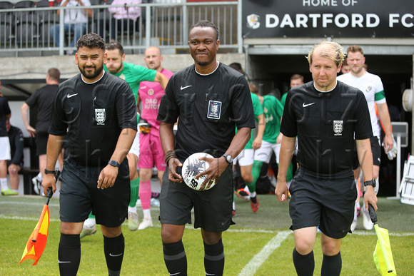
[[[143, 66], [135, 65], [133, 63], [126, 63], [123, 46], [118, 42], [111, 42], [106, 44], [106, 54], [108, 61], [104, 64], [104, 70], [114, 76], [122, 78], [128, 83], [135, 97], [138, 97], [138, 88], [141, 81], [156, 81], [161, 84], [163, 89], [166, 88], [168, 78], [162, 73], [153, 69], [148, 69]], [[139, 121], [139, 114], [137, 113], [137, 124]], [[129, 150], [128, 164], [129, 164], [129, 178], [131, 180], [131, 200], [128, 206], [128, 228], [131, 231], [138, 229], [138, 213], [136, 212], [136, 201], [139, 193], [139, 177], [136, 166], [138, 164], [139, 156], [139, 132], [136, 133], [136, 138], [133, 140], [131, 150]], [[89, 219], [84, 223], [84, 229], [81, 232], [81, 237], [92, 235], [96, 232], [96, 225], [94, 215], [89, 215]]]

